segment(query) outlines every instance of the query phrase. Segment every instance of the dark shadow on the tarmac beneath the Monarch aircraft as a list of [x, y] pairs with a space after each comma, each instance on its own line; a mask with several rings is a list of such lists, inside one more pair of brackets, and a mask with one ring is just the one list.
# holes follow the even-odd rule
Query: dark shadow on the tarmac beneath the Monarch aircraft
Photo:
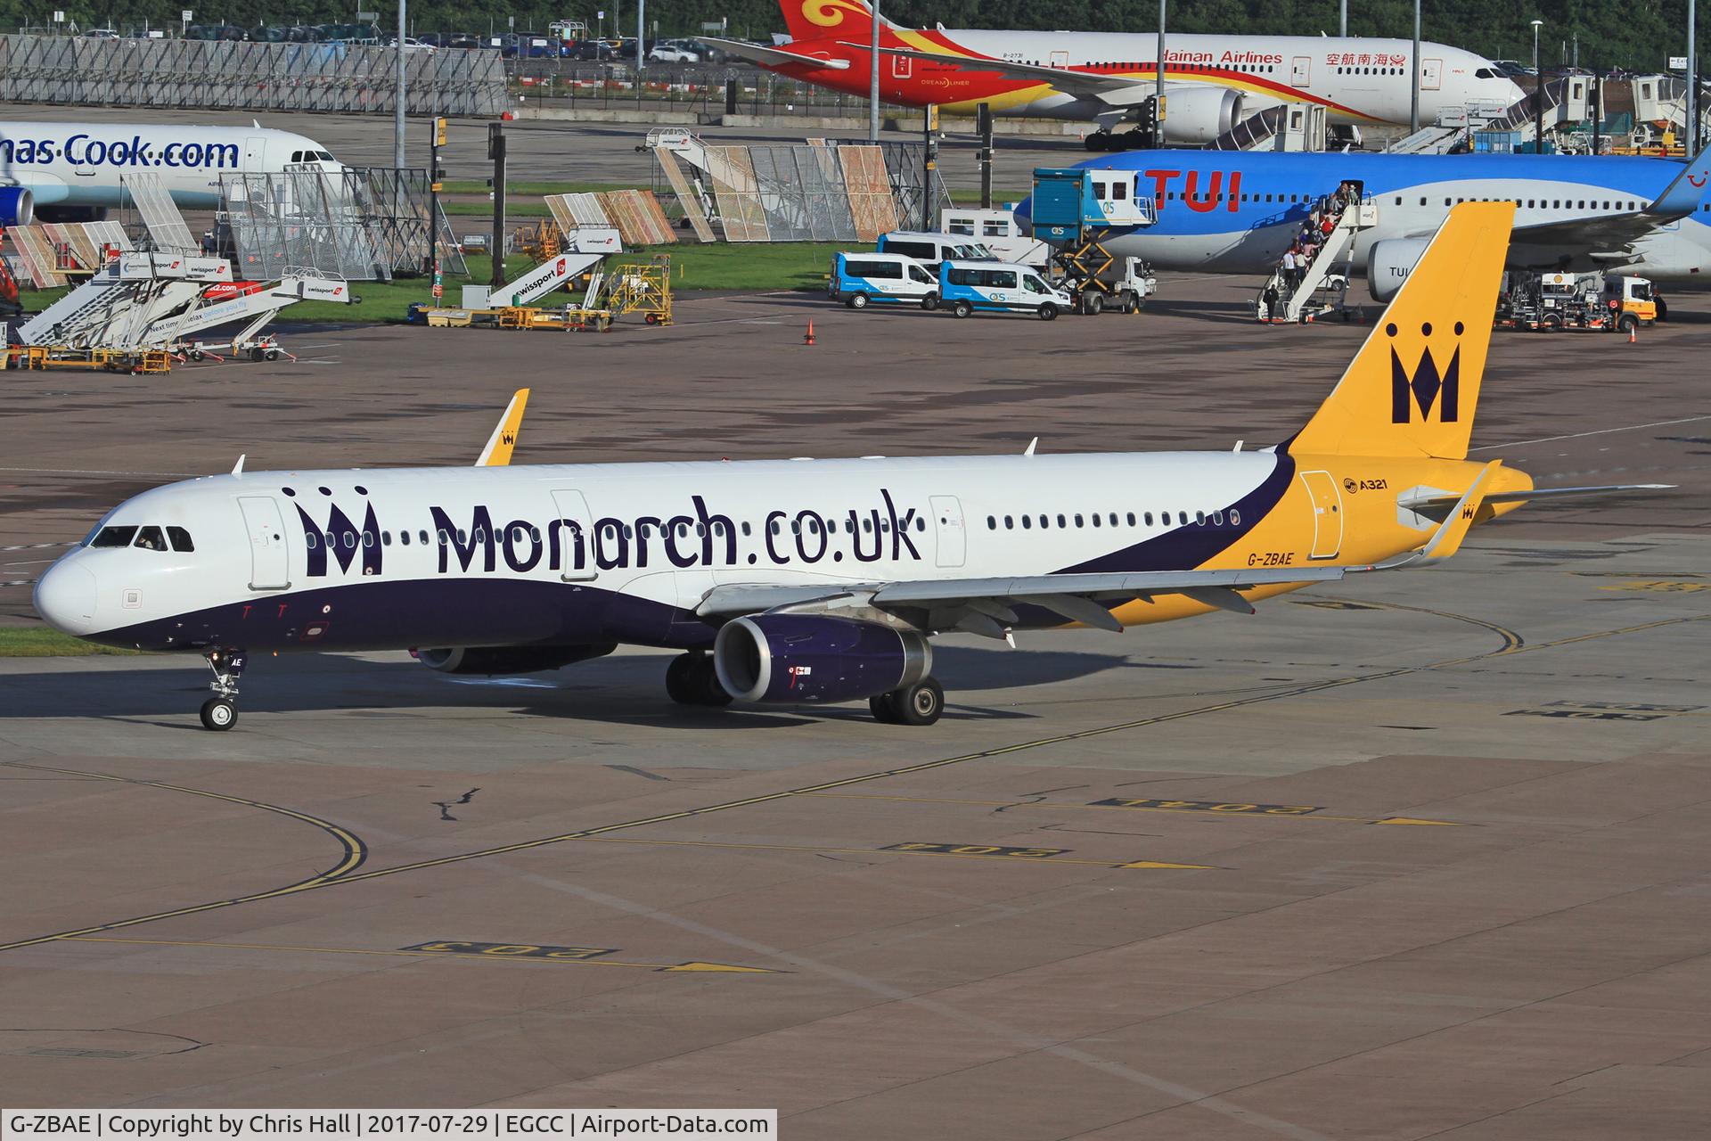
[[[0, 677], [0, 720], [43, 717], [175, 717], [173, 727], [195, 724], [207, 695], [204, 674], [192, 659], [175, 669], [123, 669], [77, 676], [63, 671]], [[520, 677], [433, 674], [414, 662], [337, 659], [317, 662], [291, 655], [257, 659], [243, 677], [240, 708], [257, 713], [327, 710], [496, 708], [529, 717], [695, 729], [761, 729], [804, 724], [809, 718], [866, 717], [866, 703], [828, 706], [731, 706], [702, 710], [674, 706], [664, 695], [667, 659], [621, 657], [583, 662], [561, 671]], [[980, 695], [998, 689], [1049, 686], [1112, 669], [1198, 669], [1193, 664], [1133, 662], [1107, 653], [980, 647], [936, 647], [934, 676], [948, 691], [946, 718], [1025, 717], [982, 708]], [[1152, 686], [1136, 684], [1136, 695]], [[200, 729], [197, 729], [200, 732]]]

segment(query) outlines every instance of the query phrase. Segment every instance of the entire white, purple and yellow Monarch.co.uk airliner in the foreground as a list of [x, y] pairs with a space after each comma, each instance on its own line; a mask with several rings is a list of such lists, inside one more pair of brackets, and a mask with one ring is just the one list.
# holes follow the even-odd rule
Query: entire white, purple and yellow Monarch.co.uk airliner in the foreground
[[[1535, 491], [1470, 462], [1514, 207], [1451, 212], [1305, 428], [1261, 452], [245, 472], [145, 491], [36, 587], [53, 626], [204, 653], [209, 729], [255, 650], [419, 647], [522, 674], [683, 648], [684, 703], [869, 700], [931, 724], [938, 633], [1252, 612], [1350, 571], [1446, 559]], [[710, 653], [708, 653], [710, 650]]]

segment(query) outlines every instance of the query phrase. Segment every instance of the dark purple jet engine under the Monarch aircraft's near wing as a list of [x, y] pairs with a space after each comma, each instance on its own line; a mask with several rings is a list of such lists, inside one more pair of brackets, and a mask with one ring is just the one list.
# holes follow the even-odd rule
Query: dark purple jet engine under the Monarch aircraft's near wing
[[719, 630], [713, 669], [737, 701], [856, 701], [926, 677], [932, 645], [881, 623], [756, 614]]

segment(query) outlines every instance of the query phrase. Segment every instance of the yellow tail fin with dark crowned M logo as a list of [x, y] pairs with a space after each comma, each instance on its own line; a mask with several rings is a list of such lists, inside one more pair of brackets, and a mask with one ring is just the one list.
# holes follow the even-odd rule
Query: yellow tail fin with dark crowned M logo
[[1449, 210], [1288, 452], [1468, 457], [1513, 226], [1511, 202], [1465, 202]]

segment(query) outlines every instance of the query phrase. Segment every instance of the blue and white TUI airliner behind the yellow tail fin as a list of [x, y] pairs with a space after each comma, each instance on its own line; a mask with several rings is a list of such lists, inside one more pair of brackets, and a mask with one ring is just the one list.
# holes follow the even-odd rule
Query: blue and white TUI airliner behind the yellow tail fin
[[[1463, 202], [1513, 202], [1507, 269], [1605, 270], [1658, 281], [1711, 274], [1711, 154], [1620, 156], [1131, 151], [1080, 164], [1114, 209], [1152, 198], [1152, 226], [1105, 248], [1157, 269], [1270, 274], [1314, 205], [1345, 181], [1372, 205], [1350, 260], [1388, 299]], [[1032, 198], [1018, 210], [1030, 222]]]

